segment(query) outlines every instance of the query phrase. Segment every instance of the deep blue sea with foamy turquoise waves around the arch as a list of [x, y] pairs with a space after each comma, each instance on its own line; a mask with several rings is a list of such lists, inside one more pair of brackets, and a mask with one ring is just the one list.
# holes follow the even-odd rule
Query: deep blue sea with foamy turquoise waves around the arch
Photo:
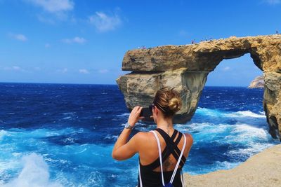
[[[261, 89], [204, 88], [192, 120], [175, 125], [194, 138], [184, 172], [230, 169], [279, 144], [262, 100]], [[117, 85], [0, 83], [0, 186], [136, 186], [137, 156], [111, 158], [128, 117]]]

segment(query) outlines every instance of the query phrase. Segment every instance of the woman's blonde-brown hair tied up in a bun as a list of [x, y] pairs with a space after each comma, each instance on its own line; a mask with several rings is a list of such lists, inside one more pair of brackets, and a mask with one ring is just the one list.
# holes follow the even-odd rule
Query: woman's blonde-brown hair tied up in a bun
[[172, 117], [181, 109], [181, 96], [174, 88], [164, 87], [156, 92], [153, 104], [164, 113], [165, 117]]

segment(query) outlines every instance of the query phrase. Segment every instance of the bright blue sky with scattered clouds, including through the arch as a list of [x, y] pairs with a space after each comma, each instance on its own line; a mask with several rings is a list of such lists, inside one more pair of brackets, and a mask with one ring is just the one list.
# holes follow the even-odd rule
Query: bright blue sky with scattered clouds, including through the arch
[[[0, 0], [0, 82], [116, 84], [127, 50], [281, 32], [281, 0]], [[206, 85], [247, 86], [249, 55]]]

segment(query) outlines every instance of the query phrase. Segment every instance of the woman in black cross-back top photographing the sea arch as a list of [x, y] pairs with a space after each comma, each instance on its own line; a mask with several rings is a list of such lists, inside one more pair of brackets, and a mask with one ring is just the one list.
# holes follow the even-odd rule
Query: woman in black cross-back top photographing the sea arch
[[[172, 123], [174, 114], [181, 109], [180, 95], [174, 88], [158, 90], [150, 106], [157, 129], [153, 132], [138, 132], [128, 141], [134, 125], [143, 119], [140, 117], [142, 109], [136, 106], [131, 111], [128, 123], [115, 143], [112, 158], [126, 160], [139, 154], [138, 186], [164, 186], [169, 182], [174, 186], [182, 186], [181, 169], [193, 140], [190, 134], [175, 130]], [[171, 180], [173, 177], [174, 181]]]

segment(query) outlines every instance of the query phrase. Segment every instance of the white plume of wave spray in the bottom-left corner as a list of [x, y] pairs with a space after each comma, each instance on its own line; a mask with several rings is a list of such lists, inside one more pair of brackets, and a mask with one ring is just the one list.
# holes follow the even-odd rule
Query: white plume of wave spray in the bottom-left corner
[[2, 183], [2, 187], [63, 187], [50, 181], [48, 165], [41, 155], [32, 153], [22, 158], [23, 168], [16, 179]]

